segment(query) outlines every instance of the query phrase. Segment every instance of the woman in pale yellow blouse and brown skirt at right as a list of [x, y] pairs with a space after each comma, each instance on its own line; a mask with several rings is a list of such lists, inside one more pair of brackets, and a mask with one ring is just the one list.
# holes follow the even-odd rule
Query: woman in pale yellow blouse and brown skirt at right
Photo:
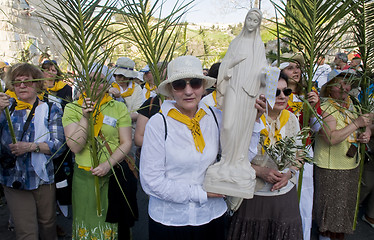
[[[333, 70], [321, 89], [323, 128], [315, 145], [314, 215], [320, 239], [344, 239], [353, 233], [358, 188], [356, 143], [370, 139], [369, 114], [358, 116], [348, 92], [352, 74]], [[360, 133], [360, 128], [366, 131]]]

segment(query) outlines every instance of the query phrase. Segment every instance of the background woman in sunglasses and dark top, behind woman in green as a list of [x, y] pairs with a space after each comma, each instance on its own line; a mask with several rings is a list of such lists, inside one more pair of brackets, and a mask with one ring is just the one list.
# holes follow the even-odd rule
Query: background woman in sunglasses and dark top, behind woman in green
[[62, 81], [62, 72], [55, 60], [45, 60], [42, 63], [44, 72], [44, 94], [45, 101], [57, 102], [62, 109], [65, 105], [72, 101], [72, 88]]

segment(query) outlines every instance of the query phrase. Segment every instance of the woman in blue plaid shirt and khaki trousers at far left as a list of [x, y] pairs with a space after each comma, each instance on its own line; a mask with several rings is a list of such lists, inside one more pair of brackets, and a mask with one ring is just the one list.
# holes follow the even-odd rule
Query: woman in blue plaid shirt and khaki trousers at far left
[[[63, 151], [62, 111], [39, 101], [43, 73], [28, 63], [12, 67], [9, 87], [16, 99], [0, 93], [0, 182], [17, 239], [57, 239], [52, 159]], [[10, 106], [16, 143], [2, 110]], [[7, 161], [4, 161], [7, 160]]]

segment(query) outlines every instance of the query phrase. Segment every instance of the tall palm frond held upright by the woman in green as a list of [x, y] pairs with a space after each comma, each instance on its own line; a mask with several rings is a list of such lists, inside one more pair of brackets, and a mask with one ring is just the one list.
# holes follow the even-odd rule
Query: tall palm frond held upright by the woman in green
[[[110, 83], [101, 79], [100, 74], [90, 77], [90, 71], [100, 73], [105, 61], [113, 51], [117, 34], [110, 32], [111, 19], [117, 5], [116, 0], [51, 0], [42, 1], [39, 12], [42, 24], [49, 27], [62, 44], [65, 60], [75, 73], [76, 88], [91, 101], [100, 102]], [[104, 74], [106, 75], [106, 74]], [[106, 78], [108, 75], [105, 76]], [[102, 90], [99, 85], [104, 83]], [[95, 109], [98, 106], [95, 106]], [[98, 112], [98, 111], [95, 111]], [[99, 164], [100, 146], [94, 134], [94, 124], [98, 114], [90, 114], [88, 145], [92, 156], [92, 166]], [[95, 176], [97, 215], [101, 216], [99, 178]]]

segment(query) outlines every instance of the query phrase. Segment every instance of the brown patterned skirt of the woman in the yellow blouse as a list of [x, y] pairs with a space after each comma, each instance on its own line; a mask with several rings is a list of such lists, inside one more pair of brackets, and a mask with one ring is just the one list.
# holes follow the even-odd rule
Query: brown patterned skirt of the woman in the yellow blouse
[[359, 168], [314, 168], [314, 218], [320, 232], [353, 233]]

